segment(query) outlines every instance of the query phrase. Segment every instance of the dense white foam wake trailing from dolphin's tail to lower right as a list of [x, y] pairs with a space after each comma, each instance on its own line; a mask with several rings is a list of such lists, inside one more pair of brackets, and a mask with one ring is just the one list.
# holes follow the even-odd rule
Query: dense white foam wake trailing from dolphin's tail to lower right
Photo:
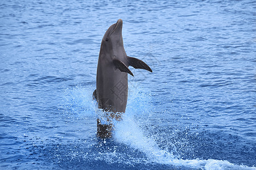
[[114, 139], [117, 142], [143, 152], [152, 163], [168, 164], [192, 169], [256, 169], [255, 167], [232, 164], [227, 160], [177, 159], [171, 152], [162, 150], [154, 139], [144, 135], [143, 130], [139, 128], [134, 118], [129, 116], [129, 114], [123, 117], [123, 121], [115, 124]]

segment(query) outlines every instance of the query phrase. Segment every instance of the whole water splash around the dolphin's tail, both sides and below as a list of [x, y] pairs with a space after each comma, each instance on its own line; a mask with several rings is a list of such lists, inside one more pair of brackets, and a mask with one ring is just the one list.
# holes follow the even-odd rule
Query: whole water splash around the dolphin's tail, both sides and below
[[[79, 117], [93, 116], [94, 114], [95, 118], [97, 112], [100, 112], [97, 104], [92, 100], [93, 90], [92, 87], [76, 86], [66, 91], [67, 103], [72, 111], [84, 109]], [[109, 165], [121, 163], [128, 167], [160, 164], [184, 169], [256, 169], [255, 167], [232, 164], [227, 160], [180, 159], [180, 156], [175, 155], [172, 150], [160, 147], [156, 142], [156, 139], [159, 138], [158, 135], [148, 135], [147, 131], [142, 128], [143, 124], [148, 124], [151, 121], [150, 118], [154, 111], [150, 104], [150, 95], [141, 91], [143, 90], [140, 87], [130, 91], [123, 120], [114, 121], [113, 139], [102, 141], [94, 137], [92, 147], [86, 151], [82, 160], [86, 160], [86, 162], [89, 160], [90, 163], [104, 162]], [[174, 144], [168, 142], [168, 145]]]

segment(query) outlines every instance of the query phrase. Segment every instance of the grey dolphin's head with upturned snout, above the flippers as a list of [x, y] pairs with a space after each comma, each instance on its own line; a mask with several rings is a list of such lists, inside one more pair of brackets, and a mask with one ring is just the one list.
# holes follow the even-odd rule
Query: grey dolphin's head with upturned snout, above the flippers
[[[117, 23], [111, 25], [106, 31], [101, 41], [101, 53], [110, 56], [118, 56], [123, 48], [123, 37], [122, 37], [122, 19], [118, 19]], [[105, 56], [104, 55], [104, 56]]]

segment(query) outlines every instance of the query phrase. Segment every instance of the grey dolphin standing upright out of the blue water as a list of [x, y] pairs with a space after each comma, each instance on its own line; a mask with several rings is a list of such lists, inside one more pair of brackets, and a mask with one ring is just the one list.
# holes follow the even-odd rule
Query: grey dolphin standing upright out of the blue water
[[128, 57], [123, 48], [122, 19], [111, 25], [106, 31], [98, 57], [96, 90], [93, 92], [98, 108], [106, 114], [107, 123], [97, 119], [97, 135], [101, 138], [112, 137], [111, 119], [121, 120], [125, 113], [128, 95], [128, 75], [132, 76], [129, 66], [135, 69], [151, 68], [140, 59]]

